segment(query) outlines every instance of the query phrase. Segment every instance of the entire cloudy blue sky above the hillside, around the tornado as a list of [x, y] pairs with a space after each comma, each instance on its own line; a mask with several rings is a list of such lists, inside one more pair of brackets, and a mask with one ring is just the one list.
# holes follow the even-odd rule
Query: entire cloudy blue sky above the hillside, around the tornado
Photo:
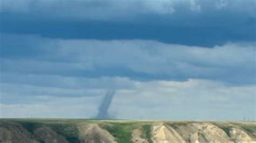
[[0, 118], [256, 120], [255, 0], [0, 0]]

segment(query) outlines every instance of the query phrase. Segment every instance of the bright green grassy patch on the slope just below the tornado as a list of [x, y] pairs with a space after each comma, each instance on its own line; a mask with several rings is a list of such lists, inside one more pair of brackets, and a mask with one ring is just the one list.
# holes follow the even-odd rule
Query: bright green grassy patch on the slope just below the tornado
[[133, 125], [131, 123], [112, 123], [105, 124], [103, 128], [110, 132], [111, 135], [119, 143], [129, 143], [131, 141], [131, 134]]

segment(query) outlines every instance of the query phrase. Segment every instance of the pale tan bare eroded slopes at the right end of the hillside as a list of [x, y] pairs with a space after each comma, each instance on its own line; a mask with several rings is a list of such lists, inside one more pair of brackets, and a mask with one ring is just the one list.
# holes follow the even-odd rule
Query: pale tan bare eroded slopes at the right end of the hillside
[[[230, 135], [230, 137], [228, 136]], [[232, 127], [229, 133], [211, 123], [191, 123], [174, 128], [166, 124], [154, 125], [152, 139], [155, 143], [171, 142], [212, 142], [212, 143], [256, 143], [255, 137], [245, 131]]]

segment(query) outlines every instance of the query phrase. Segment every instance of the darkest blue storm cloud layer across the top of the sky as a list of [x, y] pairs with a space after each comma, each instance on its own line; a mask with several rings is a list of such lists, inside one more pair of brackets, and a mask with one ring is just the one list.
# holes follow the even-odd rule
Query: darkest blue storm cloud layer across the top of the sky
[[[69, 6], [66, 6], [69, 5]], [[3, 1], [1, 32], [215, 46], [255, 41], [255, 1]]]

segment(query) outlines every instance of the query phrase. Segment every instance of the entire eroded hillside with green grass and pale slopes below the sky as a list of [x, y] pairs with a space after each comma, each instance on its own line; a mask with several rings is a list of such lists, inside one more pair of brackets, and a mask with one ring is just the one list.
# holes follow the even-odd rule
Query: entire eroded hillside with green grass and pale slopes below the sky
[[256, 142], [256, 123], [1, 119], [0, 142]]

